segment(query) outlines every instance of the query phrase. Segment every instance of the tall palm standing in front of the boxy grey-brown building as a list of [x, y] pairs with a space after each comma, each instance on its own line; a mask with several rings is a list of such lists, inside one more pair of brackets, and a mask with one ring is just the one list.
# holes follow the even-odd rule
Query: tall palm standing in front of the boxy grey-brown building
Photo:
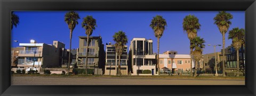
[[85, 29], [85, 34], [87, 35], [87, 48], [86, 48], [86, 68], [85, 74], [87, 75], [87, 62], [88, 62], [88, 50], [89, 50], [89, 37], [92, 35], [93, 30], [96, 27], [96, 20], [92, 18], [92, 16], [86, 16], [82, 22], [82, 28]]

